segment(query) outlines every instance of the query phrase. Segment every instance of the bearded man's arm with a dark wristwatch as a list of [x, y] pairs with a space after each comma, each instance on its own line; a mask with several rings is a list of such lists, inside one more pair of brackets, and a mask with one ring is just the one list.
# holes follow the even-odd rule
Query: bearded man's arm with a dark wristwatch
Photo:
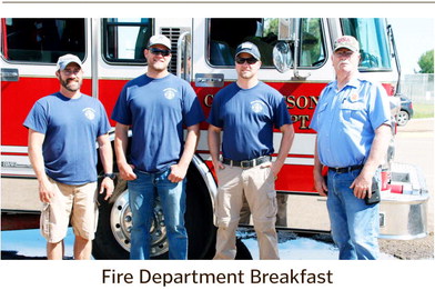
[[[109, 134], [102, 134], [97, 138], [99, 143], [99, 152], [101, 163], [103, 166], [104, 173], [113, 173], [113, 152], [110, 144]], [[104, 178], [101, 182], [100, 194], [104, 192], [104, 200], [108, 200], [113, 193], [113, 180], [110, 178]]]

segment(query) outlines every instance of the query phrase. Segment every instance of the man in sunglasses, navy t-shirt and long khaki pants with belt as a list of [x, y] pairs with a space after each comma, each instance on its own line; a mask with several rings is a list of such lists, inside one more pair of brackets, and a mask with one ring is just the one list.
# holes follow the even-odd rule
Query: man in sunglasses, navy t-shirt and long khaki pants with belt
[[[219, 180], [214, 259], [235, 258], [235, 230], [243, 197], [252, 212], [260, 259], [280, 259], [275, 179], [292, 146], [294, 131], [283, 96], [259, 80], [261, 64], [255, 44], [244, 42], [237, 47], [237, 81], [219, 91], [208, 119], [210, 153]], [[274, 127], [281, 130], [282, 140], [272, 162]]]

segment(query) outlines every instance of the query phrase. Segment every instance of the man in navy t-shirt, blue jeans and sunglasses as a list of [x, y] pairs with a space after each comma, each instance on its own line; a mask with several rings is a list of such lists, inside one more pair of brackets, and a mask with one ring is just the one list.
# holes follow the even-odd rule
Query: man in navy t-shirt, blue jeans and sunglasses
[[[164, 36], [153, 36], [144, 54], [148, 72], [125, 84], [112, 113], [117, 121], [118, 167], [121, 178], [128, 180], [133, 218], [130, 258], [150, 258], [156, 192], [164, 214], [169, 258], [183, 260], [188, 258], [185, 174], [204, 116], [192, 87], [168, 71], [171, 41]], [[185, 142], [183, 124], [188, 128]], [[128, 161], [130, 127], [133, 134]]]

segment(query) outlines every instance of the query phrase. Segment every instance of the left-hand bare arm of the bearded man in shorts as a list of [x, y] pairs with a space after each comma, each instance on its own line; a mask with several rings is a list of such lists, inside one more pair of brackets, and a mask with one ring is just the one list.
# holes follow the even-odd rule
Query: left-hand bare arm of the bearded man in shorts
[[42, 202], [50, 202], [50, 199], [54, 196], [54, 193], [45, 173], [45, 167], [43, 162], [42, 143], [44, 139], [45, 134], [29, 129], [29, 159], [38, 178], [39, 199]]

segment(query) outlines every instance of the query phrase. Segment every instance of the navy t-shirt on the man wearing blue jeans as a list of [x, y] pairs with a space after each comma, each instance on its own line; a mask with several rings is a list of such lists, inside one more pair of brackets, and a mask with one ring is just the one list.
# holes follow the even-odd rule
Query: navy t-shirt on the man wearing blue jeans
[[204, 120], [192, 87], [169, 74], [146, 74], [129, 81], [121, 91], [112, 119], [131, 124], [131, 162], [140, 171], [162, 172], [178, 163], [183, 151], [183, 124]]

